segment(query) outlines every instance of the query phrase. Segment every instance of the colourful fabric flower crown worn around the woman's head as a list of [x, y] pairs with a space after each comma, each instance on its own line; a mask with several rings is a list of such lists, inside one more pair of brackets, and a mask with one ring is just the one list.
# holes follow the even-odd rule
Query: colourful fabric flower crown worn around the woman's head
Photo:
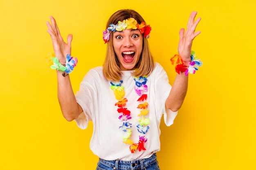
[[146, 25], [145, 22], [141, 22], [140, 24], [134, 18], [126, 19], [123, 22], [119, 21], [118, 24], [110, 24], [109, 27], [103, 31], [103, 40], [105, 44], [109, 41], [110, 31], [123, 31], [125, 29], [139, 29], [140, 33], [144, 35], [144, 37], [149, 38], [149, 34], [151, 31], [150, 25]]

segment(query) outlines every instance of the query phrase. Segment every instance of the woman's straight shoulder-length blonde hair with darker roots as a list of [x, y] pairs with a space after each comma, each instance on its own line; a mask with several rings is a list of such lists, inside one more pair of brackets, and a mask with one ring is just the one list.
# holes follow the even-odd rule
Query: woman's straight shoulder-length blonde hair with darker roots
[[[140, 24], [145, 22], [144, 19], [134, 10], [123, 9], [115, 12], [108, 20], [106, 28], [109, 27], [109, 24], [117, 24], [118, 21], [123, 21], [129, 18], [134, 18]], [[148, 39], [143, 37], [142, 52], [139, 58], [138, 63], [135, 65], [135, 72], [132, 73], [132, 76], [144, 76], [149, 75], [154, 67], [154, 60], [150, 53]], [[120, 81], [121, 80], [121, 70], [120, 65], [115, 55], [113, 48], [113, 32], [110, 32], [110, 39], [107, 43], [106, 57], [103, 63], [103, 74], [105, 78], [109, 81]]]

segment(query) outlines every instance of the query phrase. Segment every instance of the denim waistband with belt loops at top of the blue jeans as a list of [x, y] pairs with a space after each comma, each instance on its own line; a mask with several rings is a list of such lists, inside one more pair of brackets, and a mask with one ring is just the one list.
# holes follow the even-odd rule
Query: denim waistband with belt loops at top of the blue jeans
[[122, 160], [113, 160], [113, 161], [107, 161], [104, 159], [99, 158], [99, 162], [105, 164], [106, 166], [110, 166], [113, 168], [113, 170], [143, 170], [144, 167], [149, 166], [150, 164], [157, 161], [156, 153], [154, 153], [151, 157], [146, 159], [139, 159], [136, 161], [122, 161]]

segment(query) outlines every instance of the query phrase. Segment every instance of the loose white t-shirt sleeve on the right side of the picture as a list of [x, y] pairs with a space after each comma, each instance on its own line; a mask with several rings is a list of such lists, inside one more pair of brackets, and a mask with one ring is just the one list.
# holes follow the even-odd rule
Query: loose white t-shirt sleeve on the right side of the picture
[[156, 69], [157, 69], [157, 72], [156, 72], [157, 76], [156, 76], [155, 88], [157, 89], [157, 93], [156, 93], [157, 100], [160, 102], [157, 105], [159, 106], [158, 109], [159, 109], [159, 113], [161, 114], [159, 118], [161, 118], [162, 115], [164, 115], [164, 122], [166, 126], [171, 126], [171, 124], [173, 124], [175, 117], [177, 116], [178, 111], [172, 111], [171, 109], [166, 108], [165, 101], [170, 94], [171, 85], [169, 84], [169, 79], [166, 72], [164, 71], [164, 68], [162, 68], [162, 66], [157, 63]]

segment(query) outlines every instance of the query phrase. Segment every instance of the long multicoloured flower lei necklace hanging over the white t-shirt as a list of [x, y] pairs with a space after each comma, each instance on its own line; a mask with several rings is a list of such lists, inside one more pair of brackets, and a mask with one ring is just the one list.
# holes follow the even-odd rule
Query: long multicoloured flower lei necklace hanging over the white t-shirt
[[[147, 76], [140, 76], [135, 77], [135, 92], [139, 96], [139, 99], [137, 100], [139, 102], [138, 109], [140, 109], [140, 114], [138, 114], [138, 121], [139, 124], [137, 125], [137, 130], [139, 133], [146, 134], [149, 129], [149, 118], [145, 118], [145, 116], [148, 114], [148, 102], [147, 100], [147, 94], [144, 94], [144, 92], [148, 91], [148, 86], [146, 85], [148, 79]], [[136, 150], [146, 150], [144, 148], [144, 143], [147, 142], [147, 138], [144, 135], [139, 135], [139, 142], [135, 143], [130, 138], [132, 134], [132, 130], [130, 129], [132, 127], [132, 124], [128, 122], [132, 117], [130, 115], [130, 111], [125, 108], [126, 102], [128, 102], [127, 98], [125, 98], [125, 92], [124, 92], [124, 86], [121, 86], [123, 81], [118, 82], [110, 82], [111, 89], [113, 90], [115, 94], [115, 98], [118, 100], [118, 102], [115, 103], [115, 106], [118, 107], [117, 112], [120, 114], [118, 117], [119, 120], [122, 121], [122, 125], [119, 126], [119, 129], [121, 129], [124, 132], [124, 135], [122, 137], [123, 142], [125, 144], [130, 145], [130, 152], [135, 153]], [[145, 100], [145, 102], [144, 102]]]

